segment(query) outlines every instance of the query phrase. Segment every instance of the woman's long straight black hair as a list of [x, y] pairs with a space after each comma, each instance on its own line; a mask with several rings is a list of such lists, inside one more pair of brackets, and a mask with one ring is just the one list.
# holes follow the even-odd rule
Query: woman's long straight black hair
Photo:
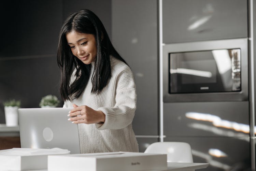
[[[72, 13], [60, 29], [57, 51], [57, 62], [61, 71], [60, 95], [64, 101], [80, 97], [89, 81], [91, 72], [91, 64], [86, 65], [75, 57], [67, 44], [66, 34], [71, 31], [93, 34], [96, 39], [97, 56], [91, 78], [92, 93], [99, 94], [111, 78], [110, 55], [125, 62], [113, 47], [108, 33], [97, 15], [86, 9]], [[75, 80], [71, 83], [74, 67], [76, 68]]]

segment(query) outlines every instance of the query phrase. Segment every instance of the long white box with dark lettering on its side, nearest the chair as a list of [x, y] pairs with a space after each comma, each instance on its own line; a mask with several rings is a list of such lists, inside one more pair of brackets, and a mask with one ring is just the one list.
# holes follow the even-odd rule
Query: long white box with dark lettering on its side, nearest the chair
[[140, 171], [167, 169], [166, 154], [112, 152], [48, 156], [48, 171]]

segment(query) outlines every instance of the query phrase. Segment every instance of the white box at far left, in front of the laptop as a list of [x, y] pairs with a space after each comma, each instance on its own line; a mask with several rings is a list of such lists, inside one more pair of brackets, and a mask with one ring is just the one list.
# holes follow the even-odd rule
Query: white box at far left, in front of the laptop
[[0, 150], [0, 171], [47, 169], [47, 157], [53, 154], [69, 154], [67, 149], [12, 148]]

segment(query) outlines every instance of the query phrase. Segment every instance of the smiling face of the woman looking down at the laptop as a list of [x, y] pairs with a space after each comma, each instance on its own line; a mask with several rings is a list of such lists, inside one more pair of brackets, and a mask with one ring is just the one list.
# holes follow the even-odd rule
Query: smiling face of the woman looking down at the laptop
[[66, 34], [68, 45], [74, 56], [84, 64], [95, 61], [97, 56], [96, 40], [93, 34], [71, 31]]

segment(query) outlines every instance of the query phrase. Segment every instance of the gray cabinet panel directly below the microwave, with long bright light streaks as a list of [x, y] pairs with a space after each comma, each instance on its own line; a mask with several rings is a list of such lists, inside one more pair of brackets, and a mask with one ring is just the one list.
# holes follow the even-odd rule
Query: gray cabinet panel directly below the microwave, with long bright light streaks
[[249, 136], [249, 103], [164, 103], [163, 133], [166, 136]]

